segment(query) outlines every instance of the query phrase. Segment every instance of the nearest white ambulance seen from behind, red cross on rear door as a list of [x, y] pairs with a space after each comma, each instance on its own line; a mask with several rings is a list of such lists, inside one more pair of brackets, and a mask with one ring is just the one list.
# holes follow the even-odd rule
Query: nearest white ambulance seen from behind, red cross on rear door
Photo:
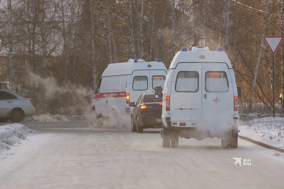
[[218, 137], [223, 148], [237, 148], [241, 88], [222, 47], [183, 47], [172, 60], [163, 94], [157, 87], [155, 95], [163, 95], [163, 147], [178, 147], [179, 137]]

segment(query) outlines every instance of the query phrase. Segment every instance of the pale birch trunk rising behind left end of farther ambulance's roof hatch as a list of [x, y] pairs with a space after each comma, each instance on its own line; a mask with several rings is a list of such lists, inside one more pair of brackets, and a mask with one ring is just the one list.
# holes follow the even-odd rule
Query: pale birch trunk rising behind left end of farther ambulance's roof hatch
[[131, 0], [127, 0], [127, 16], [128, 16], [128, 29], [129, 29], [129, 50], [130, 58], [135, 58], [135, 45], [134, 45], [134, 32], [133, 32], [133, 22], [132, 22], [132, 10], [131, 10]]

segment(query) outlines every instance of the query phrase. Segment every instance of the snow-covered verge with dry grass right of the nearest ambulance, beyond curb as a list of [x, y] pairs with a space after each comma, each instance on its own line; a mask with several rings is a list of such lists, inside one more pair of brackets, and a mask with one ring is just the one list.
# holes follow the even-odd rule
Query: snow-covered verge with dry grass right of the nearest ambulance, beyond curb
[[264, 117], [240, 121], [239, 135], [257, 142], [284, 149], [284, 118]]

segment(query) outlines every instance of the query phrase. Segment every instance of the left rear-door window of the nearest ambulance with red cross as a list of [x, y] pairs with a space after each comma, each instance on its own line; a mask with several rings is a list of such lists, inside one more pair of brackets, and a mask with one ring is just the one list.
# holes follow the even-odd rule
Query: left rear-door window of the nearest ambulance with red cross
[[197, 92], [199, 90], [199, 74], [195, 71], [182, 71], [178, 73], [175, 91]]

